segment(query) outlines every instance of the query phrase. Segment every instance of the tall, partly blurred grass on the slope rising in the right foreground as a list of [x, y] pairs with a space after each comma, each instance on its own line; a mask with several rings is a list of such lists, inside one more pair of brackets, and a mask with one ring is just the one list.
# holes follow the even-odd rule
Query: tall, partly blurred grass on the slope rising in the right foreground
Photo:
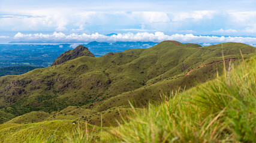
[[[230, 69], [234, 69], [230, 66]], [[255, 142], [256, 61], [183, 93], [171, 93], [112, 131], [124, 142]]]

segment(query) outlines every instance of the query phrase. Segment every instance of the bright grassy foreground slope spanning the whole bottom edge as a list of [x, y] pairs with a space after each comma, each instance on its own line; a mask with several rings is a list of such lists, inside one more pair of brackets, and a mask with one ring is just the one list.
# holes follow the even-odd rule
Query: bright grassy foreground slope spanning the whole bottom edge
[[[5, 123], [0, 125], [0, 141], [255, 142], [256, 57], [227, 69], [187, 91], [162, 95], [159, 104], [134, 108], [118, 127], [94, 129], [72, 120]], [[65, 113], [71, 108], [76, 107]]]

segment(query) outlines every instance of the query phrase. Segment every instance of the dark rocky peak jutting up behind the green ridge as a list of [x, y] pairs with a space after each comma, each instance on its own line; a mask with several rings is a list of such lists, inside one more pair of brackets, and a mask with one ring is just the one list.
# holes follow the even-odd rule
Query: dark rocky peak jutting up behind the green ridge
[[65, 61], [73, 60], [74, 58], [78, 58], [82, 56], [94, 57], [94, 54], [92, 54], [89, 51], [89, 49], [86, 48], [85, 46], [79, 45], [75, 49], [72, 49], [70, 51], [67, 51], [61, 54], [55, 61], [53, 61], [52, 66], [62, 64]]

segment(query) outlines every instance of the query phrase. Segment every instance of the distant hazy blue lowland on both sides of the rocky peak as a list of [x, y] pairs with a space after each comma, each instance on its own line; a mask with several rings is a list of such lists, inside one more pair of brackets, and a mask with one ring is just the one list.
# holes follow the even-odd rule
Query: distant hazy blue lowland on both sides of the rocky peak
[[[82, 43], [81, 43], [82, 44]], [[149, 48], [156, 42], [90, 42], [83, 43], [95, 57], [126, 49]], [[43, 66], [49, 67], [62, 53], [74, 49], [78, 43], [10, 43], [0, 44], [0, 67]]]

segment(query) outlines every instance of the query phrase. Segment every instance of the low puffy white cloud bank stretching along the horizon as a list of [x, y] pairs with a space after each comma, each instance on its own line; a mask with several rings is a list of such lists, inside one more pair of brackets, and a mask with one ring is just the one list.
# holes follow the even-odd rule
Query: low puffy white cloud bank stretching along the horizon
[[118, 33], [117, 35], [101, 35], [99, 33], [93, 33], [91, 35], [83, 33], [76, 34], [71, 33], [65, 35], [62, 32], [54, 32], [53, 34], [23, 34], [17, 33], [13, 41], [15, 42], [58, 42], [58, 43], [86, 43], [92, 41], [98, 42], [161, 42], [161, 41], [179, 41], [179, 42], [192, 42], [192, 43], [222, 43], [222, 42], [241, 42], [247, 44], [256, 44], [255, 37], [242, 37], [242, 36], [197, 36], [192, 34], [174, 34], [165, 35], [163, 32], [138, 32], [138, 33]]

